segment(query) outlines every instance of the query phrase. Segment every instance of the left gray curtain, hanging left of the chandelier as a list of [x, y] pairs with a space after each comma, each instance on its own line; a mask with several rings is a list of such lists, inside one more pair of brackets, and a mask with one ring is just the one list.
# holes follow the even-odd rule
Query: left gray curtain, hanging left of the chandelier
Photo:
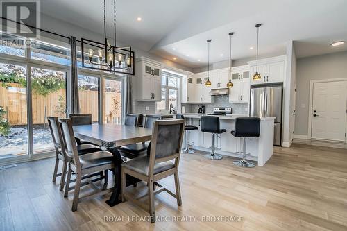
[[78, 74], [77, 74], [77, 54], [76, 54], [76, 37], [70, 37], [71, 48], [71, 113], [80, 113], [80, 101], [78, 98]]

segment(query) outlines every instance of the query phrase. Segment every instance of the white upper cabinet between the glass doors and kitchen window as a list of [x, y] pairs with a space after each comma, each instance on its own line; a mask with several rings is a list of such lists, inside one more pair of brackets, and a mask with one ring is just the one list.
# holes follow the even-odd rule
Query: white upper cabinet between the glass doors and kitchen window
[[162, 68], [160, 63], [140, 58], [135, 76], [131, 77], [132, 92], [137, 101], [162, 100]]

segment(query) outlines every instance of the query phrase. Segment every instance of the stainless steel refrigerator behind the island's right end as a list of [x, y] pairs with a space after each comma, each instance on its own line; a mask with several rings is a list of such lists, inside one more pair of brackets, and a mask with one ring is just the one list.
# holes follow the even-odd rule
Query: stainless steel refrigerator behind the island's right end
[[282, 142], [282, 86], [251, 89], [250, 114], [252, 117], [276, 117], [273, 144]]

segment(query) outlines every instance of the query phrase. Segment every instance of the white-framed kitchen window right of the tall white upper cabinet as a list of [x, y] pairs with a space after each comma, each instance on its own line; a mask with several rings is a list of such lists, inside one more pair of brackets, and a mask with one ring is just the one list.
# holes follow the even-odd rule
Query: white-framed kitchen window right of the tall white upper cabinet
[[157, 102], [157, 110], [169, 110], [170, 105], [178, 109], [180, 77], [171, 72], [162, 71], [162, 101]]

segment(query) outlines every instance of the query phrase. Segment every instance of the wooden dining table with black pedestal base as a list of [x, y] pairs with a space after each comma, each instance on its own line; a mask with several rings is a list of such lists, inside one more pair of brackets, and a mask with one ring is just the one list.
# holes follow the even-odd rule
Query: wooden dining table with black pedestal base
[[151, 140], [152, 130], [135, 126], [116, 124], [90, 124], [74, 126], [74, 135], [87, 142], [106, 148], [115, 156], [115, 187], [106, 203], [111, 207], [121, 203], [119, 194], [121, 189], [121, 163], [123, 162], [117, 147], [136, 144]]

